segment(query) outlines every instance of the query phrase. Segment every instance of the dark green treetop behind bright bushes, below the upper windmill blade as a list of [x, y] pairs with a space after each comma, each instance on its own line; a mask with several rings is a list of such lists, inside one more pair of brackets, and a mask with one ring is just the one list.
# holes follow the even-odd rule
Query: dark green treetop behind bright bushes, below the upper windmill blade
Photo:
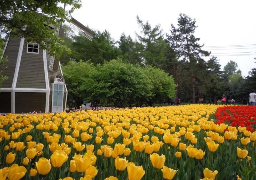
[[[94, 65], [100, 63], [103, 64], [104, 60], [110, 61], [116, 59], [120, 55], [119, 49], [115, 46], [115, 41], [111, 38], [110, 33], [105, 30], [100, 32], [94, 31], [93, 39], [90, 41], [84, 36], [73, 37], [72, 44], [69, 44], [69, 48], [72, 49], [72, 53], [65, 54], [61, 63], [67, 63], [68, 61], [78, 62], [91, 61]], [[62, 59], [62, 58], [60, 58]]]

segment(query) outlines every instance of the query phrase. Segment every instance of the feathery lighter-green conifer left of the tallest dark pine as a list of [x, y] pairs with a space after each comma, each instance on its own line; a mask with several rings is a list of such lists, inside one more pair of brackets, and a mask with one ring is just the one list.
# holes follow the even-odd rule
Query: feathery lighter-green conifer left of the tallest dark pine
[[161, 63], [166, 59], [165, 48], [166, 42], [160, 24], [154, 28], [151, 27], [148, 21], [143, 23], [142, 20], [137, 16], [137, 22], [142, 28], [142, 35], [136, 33], [140, 43], [144, 45], [144, 50], [141, 52], [144, 63], [146, 65], [153, 65], [155, 67], [162, 67]]

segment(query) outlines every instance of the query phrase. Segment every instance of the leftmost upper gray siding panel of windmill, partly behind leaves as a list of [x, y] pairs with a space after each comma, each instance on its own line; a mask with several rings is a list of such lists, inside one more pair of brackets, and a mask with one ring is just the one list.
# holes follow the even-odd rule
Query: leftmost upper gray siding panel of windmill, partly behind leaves
[[1, 87], [10, 88], [12, 86], [13, 76], [14, 76], [16, 62], [18, 58], [19, 44], [20, 44], [20, 38], [10, 37], [4, 53], [4, 56], [7, 56], [7, 59], [8, 59], [8, 61], [5, 63], [5, 66], [8, 66], [8, 68], [5, 69], [3, 72], [3, 75], [7, 76], [9, 79], [4, 81]]

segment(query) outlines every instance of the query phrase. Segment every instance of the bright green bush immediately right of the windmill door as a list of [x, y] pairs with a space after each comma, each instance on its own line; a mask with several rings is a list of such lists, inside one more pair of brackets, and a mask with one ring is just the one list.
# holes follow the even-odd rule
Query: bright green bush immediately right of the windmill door
[[91, 74], [95, 73], [96, 68], [89, 61], [70, 61], [62, 67], [62, 70], [68, 89], [68, 105], [70, 107], [75, 104], [76, 107], [79, 107], [88, 97], [88, 90], [84, 85], [94, 84]]

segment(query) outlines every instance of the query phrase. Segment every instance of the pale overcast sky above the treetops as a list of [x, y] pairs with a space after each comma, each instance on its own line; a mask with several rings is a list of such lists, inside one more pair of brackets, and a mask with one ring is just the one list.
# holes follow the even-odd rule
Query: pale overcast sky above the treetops
[[179, 13], [187, 14], [196, 19], [198, 27], [195, 36], [201, 38], [200, 43], [218, 46], [204, 49], [218, 57], [222, 68], [232, 60], [237, 62], [242, 75], [246, 76], [251, 68], [256, 67], [253, 59], [256, 55], [247, 55], [256, 54], [255, 7], [256, 1], [252, 0], [82, 0], [82, 8], [75, 10], [72, 16], [90, 29], [107, 29], [111, 37], [118, 40], [123, 32], [136, 38], [135, 32], [141, 31], [136, 22], [137, 15], [152, 27], [160, 24], [163, 32], [169, 33], [171, 24], [177, 25]]

